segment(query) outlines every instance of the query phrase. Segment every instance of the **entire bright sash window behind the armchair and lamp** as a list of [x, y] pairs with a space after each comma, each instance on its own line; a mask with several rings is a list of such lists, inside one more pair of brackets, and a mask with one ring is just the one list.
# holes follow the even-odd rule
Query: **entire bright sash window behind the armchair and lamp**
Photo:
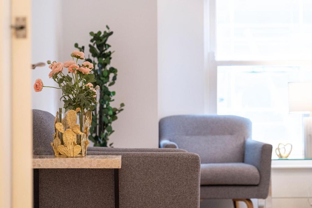
[[209, 11], [210, 113], [249, 118], [273, 158], [278, 143], [301, 158], [303, 115], [289, 113], [288, 82], [312, 81], [312, 1], [211, 0]]

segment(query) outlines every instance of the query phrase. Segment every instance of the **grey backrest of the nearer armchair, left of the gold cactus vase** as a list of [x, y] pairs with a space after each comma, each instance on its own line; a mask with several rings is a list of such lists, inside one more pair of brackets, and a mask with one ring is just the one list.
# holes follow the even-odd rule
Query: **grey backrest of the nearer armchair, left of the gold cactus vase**
[[54, 116], [43, 110], [32, 110], [32, 137], [34, 155], [54, 155], [50, 145], [53, 142]]

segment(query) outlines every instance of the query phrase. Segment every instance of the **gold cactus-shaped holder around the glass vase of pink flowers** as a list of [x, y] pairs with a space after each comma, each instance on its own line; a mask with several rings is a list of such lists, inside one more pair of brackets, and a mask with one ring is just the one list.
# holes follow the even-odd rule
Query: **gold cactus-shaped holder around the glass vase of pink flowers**
[[[51, 146], [55, 157], [85, 157], [87, 155], [87, 148], [89, 146], [89, 130], [92, 120], [92, 113], [90, 110], [83, 113], [85, 119], [80, 127], [77, 124], [77, 112], [80, 108], [69, 110], [61, 119], [60, 113], [56, 112], [54, 121], [55, 133], [53, 135], [53, 142]], [[61, 122], [57, 122], [57, 121]]]

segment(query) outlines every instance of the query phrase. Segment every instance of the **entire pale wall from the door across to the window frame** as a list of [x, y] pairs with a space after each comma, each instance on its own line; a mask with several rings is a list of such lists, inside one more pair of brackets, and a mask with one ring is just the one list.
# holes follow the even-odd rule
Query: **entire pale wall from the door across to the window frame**
[[[90, 31], [114, 31], [115, 105], [126, 105], [113, 123], [114, 147], [158, 147], [159, 118], [204, 113], [204, 0], [33, 2], [33, 62], [69, 60], [75, 42], [87, 48]], [[34, 73], [33, 82], [54, 84], [47, 66]], [[33, 93], [33, 108], [54, 114], [56, 92]]]

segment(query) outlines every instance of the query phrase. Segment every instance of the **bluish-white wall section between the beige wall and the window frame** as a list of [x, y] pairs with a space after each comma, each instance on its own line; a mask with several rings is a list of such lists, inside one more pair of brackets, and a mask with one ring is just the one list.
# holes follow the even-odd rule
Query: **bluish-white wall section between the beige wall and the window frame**
[[158, 0], [158, 117], [204, 113], [204, 0]]

